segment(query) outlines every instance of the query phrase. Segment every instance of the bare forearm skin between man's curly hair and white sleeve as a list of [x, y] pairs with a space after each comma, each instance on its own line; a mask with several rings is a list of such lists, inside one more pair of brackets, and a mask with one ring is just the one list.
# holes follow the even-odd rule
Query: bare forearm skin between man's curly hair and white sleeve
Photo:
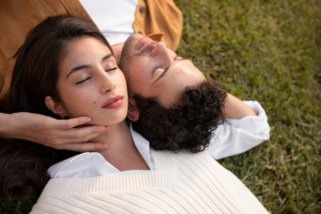
[[248, 115], [257, 115], [257, 113], [245, 105], [242, 100], [236, 98], [230, 93], [227, 93], [227, 98], [224, 106], [224, 115], [227, 118], [240, 119]]

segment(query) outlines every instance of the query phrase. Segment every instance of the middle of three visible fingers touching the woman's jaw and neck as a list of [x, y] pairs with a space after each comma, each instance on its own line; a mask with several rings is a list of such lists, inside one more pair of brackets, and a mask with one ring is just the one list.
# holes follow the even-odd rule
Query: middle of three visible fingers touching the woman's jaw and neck
[[64, 130], [64, 143], [82, 143], [98, 137], [110, 130], [110, 126], [87, 126]]

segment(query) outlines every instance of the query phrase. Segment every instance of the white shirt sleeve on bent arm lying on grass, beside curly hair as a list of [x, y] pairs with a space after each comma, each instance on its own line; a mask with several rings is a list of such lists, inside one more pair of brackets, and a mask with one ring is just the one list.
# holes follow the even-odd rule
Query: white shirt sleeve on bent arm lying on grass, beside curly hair
[[258, 115], [241, 119], [225, 119], [224, 124], [214, 131], [207, 149], [214, 159], [222, 159], [243, 153], [263, 141], [270, 139], [268, 116], [257, 101], [243, 101]]

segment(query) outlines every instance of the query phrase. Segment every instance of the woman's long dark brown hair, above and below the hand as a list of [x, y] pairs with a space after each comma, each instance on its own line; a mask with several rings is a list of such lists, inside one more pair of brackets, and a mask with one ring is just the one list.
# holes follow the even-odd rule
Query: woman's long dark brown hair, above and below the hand
[[[56, 88], [59, 62], [65, 55], [67, 43], [83, 36], [97, 38], [111, 51], [94, 25], [72, 16], [48, 17], [28, 33], [25, 44], [18, 51], [12, 74], [11, 113], [26, 111], [58, 117], [47, 108], [45, 98], [49, 95], [59, 101]], [[47, 169], [75, 154], [22, 140], [1, 141], [1, 198], [37, 197], [49, 180]]]

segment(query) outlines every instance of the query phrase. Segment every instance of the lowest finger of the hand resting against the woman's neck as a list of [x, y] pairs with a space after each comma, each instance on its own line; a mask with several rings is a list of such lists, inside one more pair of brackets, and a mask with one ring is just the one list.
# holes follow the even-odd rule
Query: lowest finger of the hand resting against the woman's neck
[[101, 151], [108, 148], [107, 143], [66, 143], [56, 149], [67, 149], [71, 151]]

